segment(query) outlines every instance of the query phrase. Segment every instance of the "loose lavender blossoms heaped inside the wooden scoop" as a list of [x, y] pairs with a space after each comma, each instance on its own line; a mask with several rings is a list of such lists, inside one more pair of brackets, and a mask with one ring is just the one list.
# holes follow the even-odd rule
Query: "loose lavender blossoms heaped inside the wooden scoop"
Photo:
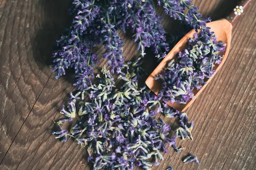
[[[184, 0], [182, 2], [186, 4]], [[190, 10], [194, 7], [188, 8]], [[193, 14], [196, 20], [199, 20], [196, 17], [198, 15]], [[177, 58], [171, 60], [155, 77], [162, 83], [158, 96], [165, 102], [185, 104], [194, 98], [193, 89], [201, 89], [206, 83], [205, 78], [210, 78], [214, 74], [215, 64], [221, 63], [223, 55], [219, 53], [225, 51], [226, 44], [217, 42], [214, 32], [205, 24], [198, 26], [196, 31], [197, 29], [201, 31], [195, 33], [194, 38], [189, 38], [185, 51], [179, 52]]]

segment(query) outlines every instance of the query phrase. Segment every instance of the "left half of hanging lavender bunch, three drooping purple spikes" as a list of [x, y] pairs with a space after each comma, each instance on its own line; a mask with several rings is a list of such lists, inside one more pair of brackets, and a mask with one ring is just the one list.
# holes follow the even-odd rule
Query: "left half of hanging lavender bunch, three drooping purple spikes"
[[110, 23], [108, 5], [99, 6], [99, 0], [73, 0], [74, 15], [70, 29], [57, 41], [58, 51], [53, 54], [53, 72], [56, 78], [65, 74], [65, 70], [73, 68], [75, 79], [73, 85], [82, 91], [88, 88], [93, 75], [93, 66], [98, 63], [93, 47], [105, 45], [104, 58], [108, 58], [111, 72], [120, 70], [123, 65], [122, 39], [118, 37], [117, 27]]

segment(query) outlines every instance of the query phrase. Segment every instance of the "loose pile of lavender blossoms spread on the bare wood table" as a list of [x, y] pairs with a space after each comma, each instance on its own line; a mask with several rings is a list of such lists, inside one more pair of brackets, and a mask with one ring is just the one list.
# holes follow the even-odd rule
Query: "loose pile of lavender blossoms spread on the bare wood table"
[[[177, 136], [191, 136], [193, 123], [188, 122], [186, 113], [167, 108], [148, 88], [138, 87], [143, 74], [141, 64], [140, 58], [124, 64], [118, 77], [123, 82], [120, 88], [115, 87], [111, 72], [102, 68], [96, 76], [98, 85], [70, 93], [67, 109], [61, 107], [61, 114], [66, 118], [56, 122], [59, 131], [52, 134], [61, 142], [70, 136], [85, 147], [87, 161], [93, 164], [94, 170], [132, 170], [136, 166], [149, 169], [163, 160], [161, 152], [168, 152], [166, 145], [180, 152], [181, 148], [175, 144]], [[85, 96], [89, 101], [85, 101]], [[161, 112], [166, 117], [177, 117], [187, 135], [170, 136], [171, 127], [163, 119], [154, 119]], [[63, 130], [61, 124], [77, 115], [78, 123], [69, 131]]]

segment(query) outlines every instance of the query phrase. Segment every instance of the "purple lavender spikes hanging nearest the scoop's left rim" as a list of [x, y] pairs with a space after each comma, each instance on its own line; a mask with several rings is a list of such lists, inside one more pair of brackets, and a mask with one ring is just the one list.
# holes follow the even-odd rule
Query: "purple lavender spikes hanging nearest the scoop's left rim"
[[123, 4], [125, 7], [122, 10], [123, 17], [119, 20], [120, 25], [134, 34], [134, 42], [138, 42], [137, 50], [141, 57], [145, 56], [145, 47], [150, 47], [158, 58], [164, 58], [169, 46], [160, 23], [162, 19], [156, 14], [153, 1], [125, 0]]

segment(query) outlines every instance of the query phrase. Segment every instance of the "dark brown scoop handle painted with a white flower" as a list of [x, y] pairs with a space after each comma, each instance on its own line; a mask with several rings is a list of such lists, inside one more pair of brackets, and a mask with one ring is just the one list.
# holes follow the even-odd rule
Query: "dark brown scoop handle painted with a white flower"
[[253, 2], [253, 0], [241, 0], [239, 5], [237, 5], [233, 11], [230, 13], [230, 15], [227, 17], [227, 20], [232, 24], [232, 26], [235, 25], [236, 21], [239, 19], [239, 17], [244, 13], [244, 11], [250, 6], [250, 4]]

